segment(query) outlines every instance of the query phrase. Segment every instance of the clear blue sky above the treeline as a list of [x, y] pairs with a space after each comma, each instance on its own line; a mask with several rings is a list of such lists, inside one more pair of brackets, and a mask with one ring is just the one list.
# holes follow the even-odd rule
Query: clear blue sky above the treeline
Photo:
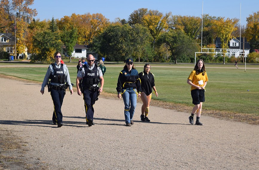
[[[203, 0], [203, 14], [240, 19], [241, 25], [246, 25], [246, 17], [259, 10], [258, 0]], [[129, 15], [139, 8], [172, 12], [172, 15], [201, 16], [202, 0], [35, 0], [31, 8], [36, 8], [36, 19], [61, 19], [72, 13], [101, 13], [110, 22], [115, 18], [128, 19]]]

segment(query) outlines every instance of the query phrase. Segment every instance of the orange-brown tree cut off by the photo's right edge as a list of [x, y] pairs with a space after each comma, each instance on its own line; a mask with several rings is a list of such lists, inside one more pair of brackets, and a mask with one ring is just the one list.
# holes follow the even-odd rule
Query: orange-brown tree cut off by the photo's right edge
[[245, 37], [250, 42], [251, 49], [259, 49], [259, 11], [246, 18]]

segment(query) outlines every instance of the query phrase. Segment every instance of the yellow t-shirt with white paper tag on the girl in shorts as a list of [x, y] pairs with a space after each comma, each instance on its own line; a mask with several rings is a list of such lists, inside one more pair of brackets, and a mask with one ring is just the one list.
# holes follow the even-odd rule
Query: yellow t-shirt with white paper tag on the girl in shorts
[[[196, 71], [193, 70], [191, 74], [188, 77], [189, 80], [196, 86], [204, 86], [204, 83], [208, 81], [207, 72], [205, 72], [205, 75], [202, 75], [202, 72], [196, 75]], [[191, 86], [191, 91], [196, 89], [194, 86]]]

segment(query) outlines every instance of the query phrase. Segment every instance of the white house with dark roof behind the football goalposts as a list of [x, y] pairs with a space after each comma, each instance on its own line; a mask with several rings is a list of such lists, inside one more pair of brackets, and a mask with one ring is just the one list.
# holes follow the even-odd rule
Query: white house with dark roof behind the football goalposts
[[[244, 38], [241, 37], [241, 40], [240, 40], [240, 38], [237, 37], [237, 38], [231, 39], [228, 42], [228, 49], [226, 49], [226, 51], [228, 53], [232, 53], [232, 54], [229, 54], [229, 56], [235, 55], [235, 57], [238, 57], [240, 55], [243, 55], [240, 53], [243, 53], [243, 48], [244, 48], [245, 57], [247, 57], [247, 55], [249, 54], [249, 50], [250, 50], [250, 44], [249, 44], [249, 42], [246, 41], [246, 38], [245, 38], [245, 43], [243, 43], [243, 41], [244, 41]], [[216, 51], [218, 51], [218, 52], [223, 51], [223, 49], [221, 48], [220, 38], [218, 38], [218, 37], [216, 38], [215, 45], [216, 45]], [[240, 45], [241, 45], [241, 47], [240, 47]]]

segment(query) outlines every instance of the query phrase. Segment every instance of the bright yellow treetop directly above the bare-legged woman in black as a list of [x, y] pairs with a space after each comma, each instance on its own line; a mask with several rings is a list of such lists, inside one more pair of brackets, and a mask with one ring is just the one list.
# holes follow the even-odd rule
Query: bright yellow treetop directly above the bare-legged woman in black
[[168, 28], [167, 18], [170, 15], [171, 13], [163, 15], [158, 10], [149, 10], [148, 14], [143, 16], [144, 25], [149, 29], [153, 42], [162, 30]]

